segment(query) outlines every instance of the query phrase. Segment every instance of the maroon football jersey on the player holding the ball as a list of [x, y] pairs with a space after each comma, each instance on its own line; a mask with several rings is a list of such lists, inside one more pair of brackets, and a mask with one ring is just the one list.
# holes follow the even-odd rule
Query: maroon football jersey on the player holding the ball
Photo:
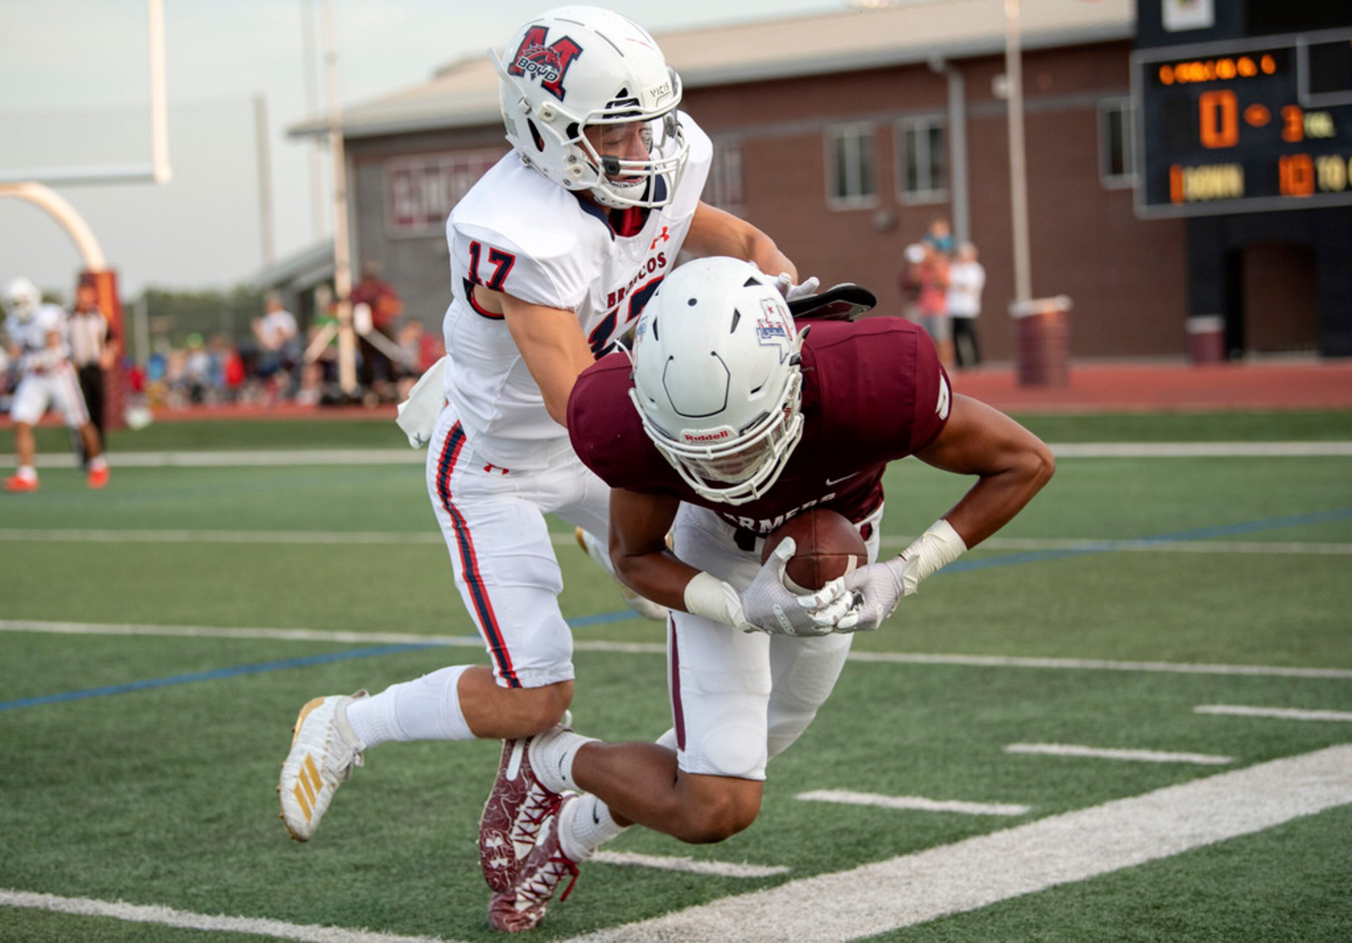
[[662, 457], [629, 398], [625, 353], [583, 371], [568, 399], [568, 434], [612, 488], [675, 495], [729, 524], [768, 534], [808, 507], [863, 521], [883, 501], [883, 469], [934, 441], [952, 396], [934, 344], [902, 318], [813, 323], [803, 344], [803, 437], [769, 492], [745, 505], [696, 494]]

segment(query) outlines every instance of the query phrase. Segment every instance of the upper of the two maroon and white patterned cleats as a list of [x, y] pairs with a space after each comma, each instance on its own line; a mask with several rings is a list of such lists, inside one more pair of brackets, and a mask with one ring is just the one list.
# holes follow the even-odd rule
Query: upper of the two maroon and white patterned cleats
[[535, 847], [541, 827], [558, 805], [558, 793], [535, 779], [530, 741], [503, 740], [498, 779], [479, 819], [479, 863], [488, 886], [498, 893], [516, 883], [518, 865]]

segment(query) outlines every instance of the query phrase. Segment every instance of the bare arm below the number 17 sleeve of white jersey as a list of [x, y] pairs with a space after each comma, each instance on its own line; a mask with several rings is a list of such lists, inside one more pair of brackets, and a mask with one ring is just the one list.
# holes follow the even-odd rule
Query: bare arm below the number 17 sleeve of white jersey
[[554, 422], [566, 428], [568, 394], [573, 391], [577, 375], [592, 363], [577, 315], [481, 287], [475, 288], [475, 299], [487, 310], [503, 314], [507, 330], [545, 398], [545, 409]]

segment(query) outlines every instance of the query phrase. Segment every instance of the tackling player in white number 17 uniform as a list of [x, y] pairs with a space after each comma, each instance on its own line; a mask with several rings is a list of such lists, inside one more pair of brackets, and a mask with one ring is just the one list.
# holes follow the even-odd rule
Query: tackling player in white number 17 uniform
[[[639, 26], [595, 7], [553, 9], [516, 31], [498, 70], [512, 150], [446, 223], [446, 405], [427, 455], [456, 586], [492, 666], [311, 701], [280, 793], [287, 828], [308, 840], [366, 748], [506, 740], [480, 850], [489, 921], [519, 931], [544, 915], [518, 905], [515, 883], [553, 805], [516, 790], [518, 762], [523, 739], [558, 724], [573, 695], [545, 514], [607, 533], [608, 488], [568, 440], [573, 383], [633, 327], [683, 249], [752, 261], [787, 294], [811, 288], [794, 284], [768, 235], [700, 202], [713, 147], [677, 111], [680, 78]], [[604, 808], [575, 819], [587, 846], [621, 831]]]

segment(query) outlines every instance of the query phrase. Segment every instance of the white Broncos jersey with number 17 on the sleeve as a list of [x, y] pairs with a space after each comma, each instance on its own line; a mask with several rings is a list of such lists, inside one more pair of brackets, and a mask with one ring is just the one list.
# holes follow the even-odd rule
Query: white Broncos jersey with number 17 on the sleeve
[[690, 157], [675, 199], [648, 211], [635, 235], [617, 234], [603, 210], [523, 165], [516, 152], [452, 210], [445, 392], [485, 460], [541, 468], [569, 445], [503, 315], [479, 307], [472, 285], [576, 311], [592, 353], [611, 350], [676, 264], [708, 177], [708, 137], [688, 115], [680, 122]]

